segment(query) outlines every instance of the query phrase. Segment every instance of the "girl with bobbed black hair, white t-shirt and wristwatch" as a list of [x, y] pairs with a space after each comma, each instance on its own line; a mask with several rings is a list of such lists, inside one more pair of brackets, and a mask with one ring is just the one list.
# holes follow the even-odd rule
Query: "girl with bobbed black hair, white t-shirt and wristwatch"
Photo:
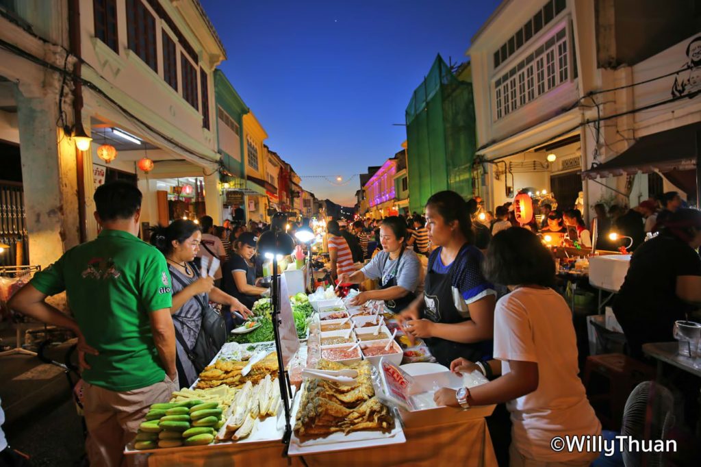
[[528, 229], [507, 229], [492, 238], [485, 276], [510, 290], [494, 312], [495, 360], [475, 364], [458, 358], [451, 371], [478, 369], [501, 376], [472, 389], [456, 393], [442, 388], [434, 395], [438, 405], [454, 407], [506, 402], [512, 420], [512, 467], [588, 466], [599, 456], [551, 447], [553, 438], [601, 434], [578, 377], [571, 311], [550, 288], [554, 271], [550, 252]]

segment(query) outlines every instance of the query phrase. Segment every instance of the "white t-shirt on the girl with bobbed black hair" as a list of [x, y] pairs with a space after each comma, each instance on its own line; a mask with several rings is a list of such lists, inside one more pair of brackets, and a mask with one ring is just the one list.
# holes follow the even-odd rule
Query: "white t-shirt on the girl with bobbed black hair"
[[505, 295], [494, 312], [494, 358], [538, 363], [538, 388], [507, 402], [512, 442], [526, 458], [562, 462], [595, 459], [597, 453], [554, 452], [552, 438], [599, 435], [601, 424], [577, 376], [577, 341], [572, 313], [551, 289], [519, 288]]

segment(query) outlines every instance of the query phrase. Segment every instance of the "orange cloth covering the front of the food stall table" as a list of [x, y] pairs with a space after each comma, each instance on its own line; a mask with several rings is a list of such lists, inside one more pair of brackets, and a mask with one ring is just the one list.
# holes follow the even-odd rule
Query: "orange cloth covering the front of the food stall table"
[[[443, 466], [457, 463], [461, 467], [497, 466], [494, 447], [485, 419], [461, 423], [436, 424], [404, 428], [407, 443], [368, 449], [329, 452], [304, 456], [306, 465], [337, 466]], [[203, 446], [177, 452], [150, 454], [149, 467], [170, 466], [287, 466], [283, 445], [278, 441], [240, 443], [226, 447]], [[303, 466], [299, 457], [290, 457], [292, 466]]]

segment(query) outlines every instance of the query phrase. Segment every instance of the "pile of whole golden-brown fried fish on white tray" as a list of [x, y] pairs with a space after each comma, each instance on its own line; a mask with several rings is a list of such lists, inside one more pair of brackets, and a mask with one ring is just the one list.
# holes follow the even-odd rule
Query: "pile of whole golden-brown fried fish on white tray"
[[388, 407], [375, 397], [370, 365], [362, 361], [353, 365], [320, 360], [323, 370], [358, 370], [353, 386], [332, 381], [308, 379], [301, 395], [294, 433], [300, 439], [317, 438], [331, 433], [361, 430], [391, 431], [394, 417]]

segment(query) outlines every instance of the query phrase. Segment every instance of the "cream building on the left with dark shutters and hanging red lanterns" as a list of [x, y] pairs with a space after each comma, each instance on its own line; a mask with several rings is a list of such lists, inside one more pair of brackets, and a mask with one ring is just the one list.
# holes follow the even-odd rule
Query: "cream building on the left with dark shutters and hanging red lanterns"
[[[152, 225], [173, 214], [159, 187], [190, 177], [205, 187], [200, 204], [221, 219], [212, 70], [226, 55], [198, 1], [6, 1], [0, 9], [0, 139], [20, 147], [31, 264], [95, 237], [92, 197], [105, 180], [138, 180], [142, 220]], [[76, 115], [93, 137], [86, 151], [72, 137]], [[109, 165], [97, 157], [102, 144], [116, 148]], [[136, 168], [144, 156], [155, 162], [148, 175]]]

